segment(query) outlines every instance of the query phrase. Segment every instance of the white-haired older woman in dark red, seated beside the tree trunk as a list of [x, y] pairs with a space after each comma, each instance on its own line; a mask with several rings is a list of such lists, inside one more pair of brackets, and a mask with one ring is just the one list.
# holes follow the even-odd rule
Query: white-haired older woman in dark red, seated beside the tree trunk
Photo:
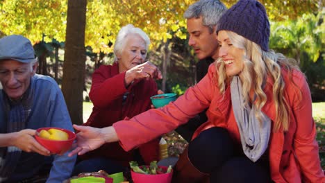
[[[115, 62], [99, 67], [92, 75], [90, 99], [94, 107], [83, 125], [104, 128], [151, 108], [150, 96], [158, 92], [153, 79], [162, 76], [155, 65], [145, 62], [149, 44], [149, 37], [140, 28], [128, 24], [119, 30], [114, 45]], [[76, 164], [74, 175], [124, 171], [131, 160], [149, 164], [158, 160], [158, 143], [155, 139], [128, 152], [119, 143], [106, 143], [79, 157], [82, 161]]]

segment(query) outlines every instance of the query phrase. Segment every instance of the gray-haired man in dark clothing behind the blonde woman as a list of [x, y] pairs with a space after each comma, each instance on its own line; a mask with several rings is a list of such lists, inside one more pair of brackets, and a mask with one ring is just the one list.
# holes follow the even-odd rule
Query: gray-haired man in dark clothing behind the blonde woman
[[[218, 58], [219, 44], [215, 30], [222, 13], [226, 9], [226, 6], [219, 0], [201, 0], [190, 5], [184, 12], [190, 35], [188, 44], [193, 47], [194, 53], [199, 58], [199, 62], [196, 65], [197, 82], [206, 76], [209, 65]], [[190, 141], [194, 131], [206, 121], [205, 110], [188, 123], [179, 126], [176, 132], [186, 141]]]

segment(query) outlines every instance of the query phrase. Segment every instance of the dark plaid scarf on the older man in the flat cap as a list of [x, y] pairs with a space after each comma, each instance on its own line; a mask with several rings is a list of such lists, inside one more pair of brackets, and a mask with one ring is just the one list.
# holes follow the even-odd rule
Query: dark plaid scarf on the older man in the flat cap
[[[12, 101], [10, 98], [1, 91], [5, 106], [7, 120], [6, 127], [7, 133], [19, 132], [24, 130], [26, 126], [26, 119], [31, 112], [31, 106], [33, 101], [33, 79], [31, 79], [31, 85], [25, 92], [22, 100]], [[0, 182], [6, 180], [12, 172], [15, 170], [19, 161], [22, 150], [9, 146], [7, 148], [0, 148]]]

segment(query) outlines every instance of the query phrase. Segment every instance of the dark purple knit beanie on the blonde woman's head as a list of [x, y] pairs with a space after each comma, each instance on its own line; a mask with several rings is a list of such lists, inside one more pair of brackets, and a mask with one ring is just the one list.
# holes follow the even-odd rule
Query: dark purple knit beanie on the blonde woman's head
[[230, 30], [269, 50], [269, 19], [264, 6], [256, 0], [240, 0], [224, 12], [217, 25]]

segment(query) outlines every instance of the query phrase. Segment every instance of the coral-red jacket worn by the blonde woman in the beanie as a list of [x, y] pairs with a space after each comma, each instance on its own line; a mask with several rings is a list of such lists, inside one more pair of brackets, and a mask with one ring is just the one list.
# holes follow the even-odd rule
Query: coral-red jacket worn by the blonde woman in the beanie
[[[209, 107], [206, 112], [208, 121], [197, 129], [193, 138], [203, 130], [218, 126], [226, 128], [233, 139], [240, 143], [240, 134], [231, 105], [230, 88], [228, 87], [224, 94], [220, 94], [215, 81], [216, 72], [215, 65], [210, 65], [208, 74], [197, 85], [190, 87], [174, 103], [156, 110], [149, 110], [129, 121], [115, 123], [113, 127], [122, 147], [128, 150], [160, 134], [169, 132], [178, 125], [186, 123], [188, 119], [206, 107]], [[325, 182], [319, 162], [312, 102], [306, 79], [301, 72], [296, 70], [292, 73], [295, 85], [290, 82], [290, 76], [286, 71], [283, 71], [283, 77], [285, 80], [284, 97], [291, 110], [290, 128], [288, 132], [272, 131], [271, 133], [268, 148], [270, 175], [274, 182]], [[267, 103], [262, 109], [272, 119], [272, 128], [276, 117], [272, 100], [273, 83], [268, 78], [264, 91], [267, 95]], [[155, 121], [147, 119], [155, 119]], [[129, 128], [133, 130], [126, 134], [125, 132]], [[145, 135], [142, 135], [137, 142], [130, 141], [138, 134]]]

